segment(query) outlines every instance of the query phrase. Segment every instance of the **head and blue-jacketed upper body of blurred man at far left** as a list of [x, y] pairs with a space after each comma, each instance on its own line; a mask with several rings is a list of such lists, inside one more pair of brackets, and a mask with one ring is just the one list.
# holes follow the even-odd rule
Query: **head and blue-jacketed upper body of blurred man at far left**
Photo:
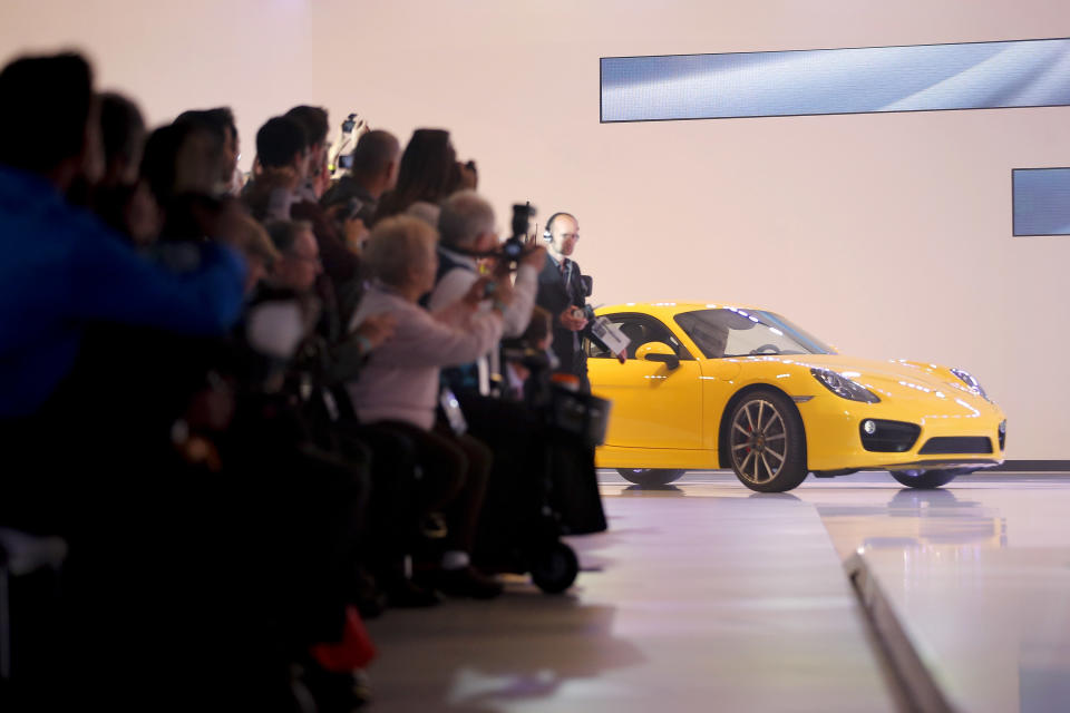
[[200, 266], [176, 274], [66, 202], [76, 178], [100, 170], [86, 61], [18, 59], [0, 72], [0, 419], [41, 410], [90, 323], [225, 333], [242, 309], [240, 255], [204, 245]]

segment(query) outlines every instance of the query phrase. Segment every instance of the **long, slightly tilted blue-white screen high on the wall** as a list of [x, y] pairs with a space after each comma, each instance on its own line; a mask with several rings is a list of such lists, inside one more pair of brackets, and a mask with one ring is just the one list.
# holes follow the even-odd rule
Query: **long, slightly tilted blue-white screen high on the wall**
[[1070, 39], [602, 58], [602, 121], [1070, 105]]

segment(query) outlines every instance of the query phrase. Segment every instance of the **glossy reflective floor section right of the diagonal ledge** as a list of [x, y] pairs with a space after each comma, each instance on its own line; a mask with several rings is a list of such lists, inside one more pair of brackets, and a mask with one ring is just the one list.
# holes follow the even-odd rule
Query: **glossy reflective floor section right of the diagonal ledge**
[[1024, 713], [1070, 710], [1068, 486], [963, 478], [806, 499], [837, 551], [859, 553], [952, 707]]

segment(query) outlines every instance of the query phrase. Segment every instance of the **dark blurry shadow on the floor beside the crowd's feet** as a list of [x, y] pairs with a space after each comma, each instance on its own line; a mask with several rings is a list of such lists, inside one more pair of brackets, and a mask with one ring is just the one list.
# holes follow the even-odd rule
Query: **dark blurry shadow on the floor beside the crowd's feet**
[[[390, 617], [385, 625], [370, 622], [369, 631], [406, 663], [377, 667], [377, 711], [427, 710], [428, 701], [440, 702], [435, 710], [502, 711], [644, 661], [634, 644], [614, 635], [615, 607], [547, 597], [523, 585], [510, 586], [493, 603], [449, 602], [444, 609], [391, 612]], [[414, 672], [420, 680], [416, 688]]]

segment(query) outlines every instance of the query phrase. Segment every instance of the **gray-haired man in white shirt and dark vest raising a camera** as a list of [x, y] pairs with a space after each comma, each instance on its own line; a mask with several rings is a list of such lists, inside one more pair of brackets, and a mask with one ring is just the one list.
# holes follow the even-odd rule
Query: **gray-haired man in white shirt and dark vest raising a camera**
[[[464, 296], [479, 280], [478, 255], [498, 247], [494, 208], [474, 191], [455, 193], [442, 204], [438, 218], [438, 275], [431, 291], [428, 309], [436, 312]], [[503, 336], [521, 336], [532, 319], [538, 271], [546, 260], [546, 251], [536, 247], [521, 261], [513, 286], [513, 302], [503, 314]], [[489, 300], [488, 300], [489, 304]], [[444, 377], [458, 393], [490, 392], [490, 374], [496, 372], [497, 351], [471, 364], [444, 370]]]

